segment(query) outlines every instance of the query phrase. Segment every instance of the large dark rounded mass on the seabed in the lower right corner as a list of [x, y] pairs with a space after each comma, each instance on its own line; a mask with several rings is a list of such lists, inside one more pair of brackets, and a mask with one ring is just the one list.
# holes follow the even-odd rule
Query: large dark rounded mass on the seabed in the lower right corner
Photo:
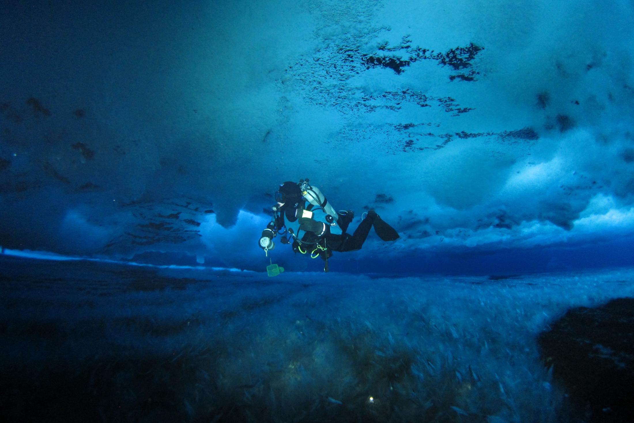
[[574, 401], [596, 421], [634, 416], [634, 298], [569, 309], [538, 337], [540, 353]]

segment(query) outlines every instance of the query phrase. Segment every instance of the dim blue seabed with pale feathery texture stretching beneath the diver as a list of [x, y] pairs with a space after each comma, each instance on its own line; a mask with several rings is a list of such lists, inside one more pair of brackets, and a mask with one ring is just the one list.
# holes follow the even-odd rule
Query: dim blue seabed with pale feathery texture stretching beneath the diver
[[366, 277], [1, 257], [10, 421], [559, 422], [536, 346], [634, 270]]

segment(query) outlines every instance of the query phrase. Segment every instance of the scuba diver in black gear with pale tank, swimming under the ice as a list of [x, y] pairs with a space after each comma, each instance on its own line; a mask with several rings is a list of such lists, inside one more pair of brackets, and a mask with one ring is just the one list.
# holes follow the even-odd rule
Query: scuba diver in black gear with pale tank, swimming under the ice
[[[346, 232], [353, 221], [353, 211], [335, 211], [319, 188], [311, 186], [308, 179], [299, 183], [287, 181], [280, 184], [275, 193], [277, 205], [272, 207], [273, 220], [262, 231], [259, 245], [266, 254], [275, 247], [273, 238], [281, 236], [282, 244], [291, 244], [295, 253], [311, 253], [312, 258], [321, 257], [324, 271], [328, 271], [328, 258], [333, 251], [357, 251], [373, 227], [384, 241], [399, 238], [392, 226], [370, 209], [353, 235]], [[309, 204], [306, 205], [306, 202]]]

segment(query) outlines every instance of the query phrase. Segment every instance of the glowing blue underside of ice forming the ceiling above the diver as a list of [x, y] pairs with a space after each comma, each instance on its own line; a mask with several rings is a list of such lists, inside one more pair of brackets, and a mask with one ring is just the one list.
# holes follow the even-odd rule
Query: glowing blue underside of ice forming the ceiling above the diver
[[118, 3], [1, 6], [3, 247], [259, 268], [300, 178], [401, 232], [342, 260], [634, 232], [630, 2]]

